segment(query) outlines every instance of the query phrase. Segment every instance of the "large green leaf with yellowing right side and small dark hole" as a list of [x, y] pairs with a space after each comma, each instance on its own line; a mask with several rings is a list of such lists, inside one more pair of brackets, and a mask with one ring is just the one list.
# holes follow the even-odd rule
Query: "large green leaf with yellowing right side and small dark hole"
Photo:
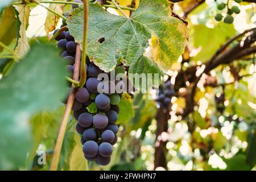
[[[68, 28], [77, 43], [82, 43], [83, 8], [75, 10]], [[154, 43], [150, 44], [150, 39]], [[170, 67], [184, 52], [187, 27], [171, 16], [167, 0], [143, 0], [131, 18], [109, 14], [100, 5], [89, 3], [88, 51], [94, 63], [109, 72], [123, 59], [138, 71], [158, 71], [156, 64]], [[143, 59], [150, 47], [151, 63]], [[154, 59], [153, 59], [154, 58]], [[144, 64], [141, 66], [141, 64]], [[148, 64], [152, 64], [151, 67]], [[135, 68], [133, 68], [135, 70]]]

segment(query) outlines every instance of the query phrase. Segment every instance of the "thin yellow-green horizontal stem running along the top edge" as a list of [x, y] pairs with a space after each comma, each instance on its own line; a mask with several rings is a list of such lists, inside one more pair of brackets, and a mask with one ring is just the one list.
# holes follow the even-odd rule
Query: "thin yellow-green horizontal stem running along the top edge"
[[[79, 2], [68, 2], [68, 1], [38, 1], [40, 3], [52, 3], [52, 4], [66, 4], [66, 5], [82, 5], [82, 3]], [[27, 2], [28, 4], [35, 3], [35, 2]], [[23, 5], [22, 1], [13, 2], [12, 5]], [[117, 9], [114, 5], [101, 5], [102, 7], [112, 7], [114, 9]], [[129, 10], [129, 11], [135, 11], [134, 8], [126, 7], [126, 6], [119, 6], [122, 10]]]

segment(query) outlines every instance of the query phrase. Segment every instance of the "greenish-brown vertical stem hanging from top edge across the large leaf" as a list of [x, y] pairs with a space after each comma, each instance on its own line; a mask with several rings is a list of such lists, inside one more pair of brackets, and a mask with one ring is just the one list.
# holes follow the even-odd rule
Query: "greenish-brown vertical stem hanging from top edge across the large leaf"
[[89, 17], [89, 9], [87, 0], [84, 1], [84, 34], [82, 39], [82, 60], [81, 60], [81, 68], [80, 68], [80, 81], [79, 85], [82, 88], [86, 82], [86, 47], [87, 47], [87, 29], [88, 29], [88, 17]]

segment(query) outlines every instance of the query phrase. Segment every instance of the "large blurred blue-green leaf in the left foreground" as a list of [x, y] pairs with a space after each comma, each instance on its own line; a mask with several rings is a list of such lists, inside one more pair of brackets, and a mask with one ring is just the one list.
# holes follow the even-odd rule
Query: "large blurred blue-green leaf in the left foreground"
[[[29, 118], [53, 110], [67, 95], [67, 70], [59, 51], [35, 45], [0, 82], [0, 169], [23, 166], [31, 150]], [[18, 153], [17, 153], [18, 152]]]

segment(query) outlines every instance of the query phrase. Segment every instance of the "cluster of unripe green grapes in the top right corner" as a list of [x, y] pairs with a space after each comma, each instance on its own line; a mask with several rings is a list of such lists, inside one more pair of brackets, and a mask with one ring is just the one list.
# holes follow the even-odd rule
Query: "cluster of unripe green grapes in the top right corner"
[[[242, 0], [234, 0], [237, 3], [241, 3]], [[226, 9], [226, 15], [224, 18], [224, 22], [231, 24], [234, 22], [234, 17], [232, 16], [232, 14], [240, 14], [240, 9], [238, 6], [232, 6], [231, 8], [228, 6], [228, 4], [226, 3], [220, 3], [217, 5], [217, 9], [219, 11], [222, 11], [221, 13], [217, 13], [216, 16], [214, 16], [214, 19], [218, 22], [221, 22], [222, 19], [224, 18], [224, 16], [222, 15], [222, 13], [224, 13], [224, 10]]]

